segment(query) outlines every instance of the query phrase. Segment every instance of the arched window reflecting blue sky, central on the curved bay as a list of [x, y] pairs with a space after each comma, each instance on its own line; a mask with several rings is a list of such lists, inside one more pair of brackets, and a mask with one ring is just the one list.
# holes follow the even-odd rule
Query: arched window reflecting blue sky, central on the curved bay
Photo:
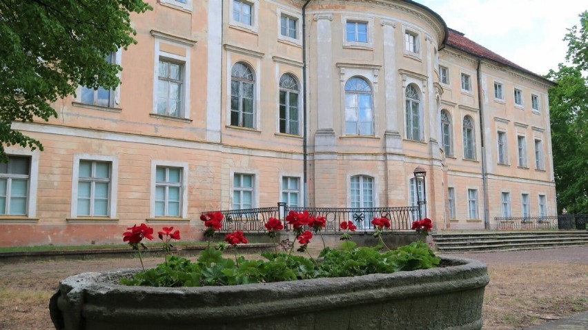
[[345, 134], [373, 135], [371, 86], [359, 77], [345, 84]]

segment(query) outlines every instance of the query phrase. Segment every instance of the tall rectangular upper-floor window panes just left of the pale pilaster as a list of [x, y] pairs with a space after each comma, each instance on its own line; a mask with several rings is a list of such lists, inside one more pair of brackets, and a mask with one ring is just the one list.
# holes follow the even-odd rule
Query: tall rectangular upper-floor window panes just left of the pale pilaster
[[157, 114], [183, 117], [182, 94], [184, 86], [184, 66], [159, 59], [157, 78]]

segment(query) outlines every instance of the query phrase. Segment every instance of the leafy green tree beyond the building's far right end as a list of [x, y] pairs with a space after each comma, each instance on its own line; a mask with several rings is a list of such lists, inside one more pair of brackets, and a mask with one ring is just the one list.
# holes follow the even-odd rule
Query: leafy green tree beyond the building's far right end
[[564, 40], [566, 59], [547, 77], [556, 82], [549, 90], [551, 142], [558, 212], [588, 213], [588, 11], [580, 14], [580, 28], [574, 26]]

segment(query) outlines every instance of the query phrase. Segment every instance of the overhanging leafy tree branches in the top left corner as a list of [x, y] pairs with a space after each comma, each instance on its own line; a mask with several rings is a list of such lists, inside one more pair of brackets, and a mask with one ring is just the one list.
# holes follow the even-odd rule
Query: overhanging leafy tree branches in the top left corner
[[150, 9], [141, 0], [0, 0], [0, 161], [5, 145], [43, 150], [12, 122], [57, 117], [52, 102], [79, 85], [120, 84], [121, 67], [105, 57], [137, 43], [130, 13]]

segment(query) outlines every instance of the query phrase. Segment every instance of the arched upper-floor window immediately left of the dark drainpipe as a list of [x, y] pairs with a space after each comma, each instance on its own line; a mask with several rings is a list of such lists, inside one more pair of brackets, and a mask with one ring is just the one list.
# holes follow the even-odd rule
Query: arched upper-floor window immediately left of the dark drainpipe
[[293, 75], [280, 78], [280, 133], [299, 135], [298, 96], [300, 88]]

